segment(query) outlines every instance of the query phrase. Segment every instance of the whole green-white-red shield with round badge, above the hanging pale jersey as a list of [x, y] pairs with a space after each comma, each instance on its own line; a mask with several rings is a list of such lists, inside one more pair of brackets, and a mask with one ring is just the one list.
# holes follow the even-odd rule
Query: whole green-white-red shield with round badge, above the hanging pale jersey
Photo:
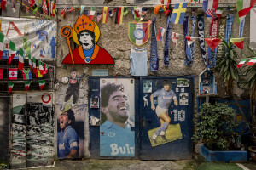
[[132, 43], [137, 46], [142, 46], [149, 39], [149, 29], [148, 22], [129, 22], [128, 23], [128, 36]]

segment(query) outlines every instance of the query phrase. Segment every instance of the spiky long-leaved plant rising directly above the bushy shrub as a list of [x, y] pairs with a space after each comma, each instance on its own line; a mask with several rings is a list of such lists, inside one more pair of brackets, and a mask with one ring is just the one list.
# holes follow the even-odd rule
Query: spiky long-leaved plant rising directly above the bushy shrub
[[217, 65], [214, 70], [219, 71], [219, 76], [224, 78], [224, 82], [227, 82], [226, 92], [227, 94], [233, 93], [234, 80], [236, 80], [236, 75], [240, 72], [236, 68], [236, 60], [238, 59], [238, 54], [236, 52], [236, 46], [232, 42], [226, 42], [222, 37], [222, 43], [224, 44], [225, 50], [220, 58], [217, 59]]

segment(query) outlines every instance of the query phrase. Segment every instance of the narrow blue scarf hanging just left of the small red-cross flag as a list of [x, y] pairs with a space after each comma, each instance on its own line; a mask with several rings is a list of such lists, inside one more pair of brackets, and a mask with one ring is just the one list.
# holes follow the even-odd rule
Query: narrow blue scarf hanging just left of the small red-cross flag
[[170, 38], [172, 33], [172, 26], [171, 26], [171, 14], [168, 15], [167, 19], [167, 28], [166, 28], [166, 41], [165, 41], [165, 49], [164, 49], [164, 62], [165, 66], [169, 65], [169, 48], [170, 48]]

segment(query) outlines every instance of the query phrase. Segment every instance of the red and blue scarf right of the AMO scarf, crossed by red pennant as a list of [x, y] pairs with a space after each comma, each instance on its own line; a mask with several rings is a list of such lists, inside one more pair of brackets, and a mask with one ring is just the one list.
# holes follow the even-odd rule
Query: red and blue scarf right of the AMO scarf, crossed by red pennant
[[[219, 18], [216, 17], [212, 21], [212, 25], [210, 28], [210, 38], [217, 38], [218, 37], [218, 21]], [[218, 48], [215, 48], [213, 51], [210, 47], [208, 47], [208, 68], [213, 68], [216, 65], [216, 54], [217, 54]]]

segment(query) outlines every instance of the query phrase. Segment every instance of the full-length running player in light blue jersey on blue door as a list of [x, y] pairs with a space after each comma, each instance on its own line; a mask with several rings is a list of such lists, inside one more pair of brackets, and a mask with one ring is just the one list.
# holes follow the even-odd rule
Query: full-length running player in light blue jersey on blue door
[[[166, 129], [171, 122], [170, 116], [168, 116], [168, 107], [171, 105], [172, 99], [174, 100], [174, 105], [177, 105], [176, 94], [172, 90], [172, 84], [168, 80], [162, 82], [163, 88], [151, 94], [151, 109], [155, 111], [156, 115], [160, 119], [161, 126], [158, 127], [153, 136], [150, 137], [151, 141], [155, 144], [156, 138], [160, 136], [161, 139], [167, 141], [166, 139]], [[157, 97], [158, 105], [154, 106], [154, 98]]]

